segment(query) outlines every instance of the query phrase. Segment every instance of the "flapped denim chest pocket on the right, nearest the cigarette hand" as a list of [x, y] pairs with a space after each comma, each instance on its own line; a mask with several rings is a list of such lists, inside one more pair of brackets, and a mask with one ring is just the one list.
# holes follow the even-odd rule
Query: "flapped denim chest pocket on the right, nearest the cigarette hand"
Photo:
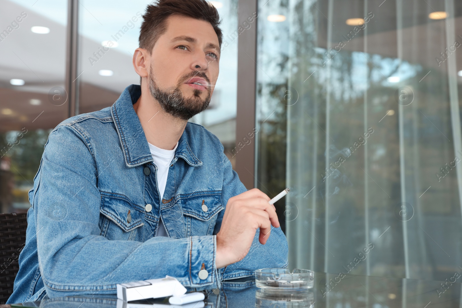
[[180, 199], [186, 222], [186, 236], [212, 235], [221, 204], [221, 191], [207, 192]]

